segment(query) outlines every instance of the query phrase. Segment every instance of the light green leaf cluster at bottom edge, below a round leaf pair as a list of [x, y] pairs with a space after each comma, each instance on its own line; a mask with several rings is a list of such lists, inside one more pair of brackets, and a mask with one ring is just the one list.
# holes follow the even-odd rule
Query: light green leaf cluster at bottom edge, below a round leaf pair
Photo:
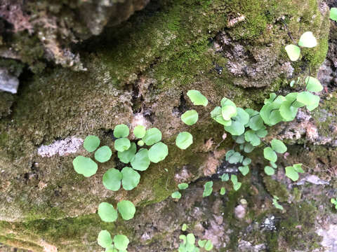
[[105, 248], [105, 252], [127, 252], [126, 248], [130, 241], [125, 235], [115, 235], [112, 239], [109, 231], [102, 230], [98, 234], [97, 242]]

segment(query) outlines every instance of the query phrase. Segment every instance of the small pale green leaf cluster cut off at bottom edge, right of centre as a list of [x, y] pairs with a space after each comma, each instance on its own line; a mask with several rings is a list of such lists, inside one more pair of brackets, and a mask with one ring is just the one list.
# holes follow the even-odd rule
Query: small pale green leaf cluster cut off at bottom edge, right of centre
[[183, 241], [179, 245], [178, 252], [199, 252], [200, 248], [204, 248], [205, 251], [211, 251], [213, 248], [211, 240], [199, 240], [197, 244], [200, 248], [195, 246], [195, 237], [192, 233], [180, 235], [179, 239]]

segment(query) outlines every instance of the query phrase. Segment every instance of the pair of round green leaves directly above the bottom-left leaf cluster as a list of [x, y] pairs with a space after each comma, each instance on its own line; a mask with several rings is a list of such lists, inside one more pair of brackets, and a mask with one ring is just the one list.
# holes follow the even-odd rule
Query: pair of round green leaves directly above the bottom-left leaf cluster
[[104, 222], [114, 222], [118, 218], [118, 212], [121, 214], [121, 218], [125, 221], [131, 220], [136, 213], [136, 207], [133, 205], [131, 201], [121, 200], [121, 202], [117, 203], [117, 209], [114, 209], [112, 204], [107, 202], [102, 202], [98, 206], [98, 215], [100, 219]]

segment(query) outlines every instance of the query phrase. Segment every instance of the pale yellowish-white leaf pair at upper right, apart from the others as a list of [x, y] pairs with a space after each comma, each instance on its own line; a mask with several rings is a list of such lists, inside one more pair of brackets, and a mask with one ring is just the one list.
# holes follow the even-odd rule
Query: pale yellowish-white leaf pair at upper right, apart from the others
[[300, 47], [303, 48], [314, 48], [317, 45], [317, 39], [311, 31], [306, 31], [302, 36], [297, 45], [286, 45], [286, 53], [291, 61], [296, 61], [300, 58]]

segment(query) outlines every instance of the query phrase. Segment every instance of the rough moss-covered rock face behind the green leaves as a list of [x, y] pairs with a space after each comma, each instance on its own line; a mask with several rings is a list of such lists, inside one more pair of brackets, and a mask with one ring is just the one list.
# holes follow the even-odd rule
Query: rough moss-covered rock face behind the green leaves
[[[187, 232], [197, 239], [211, 239], [213, 251], [331, 249], [337, 224], [329, 202], [337, 193], [333, 83], [337, 33], [325, 3], [151, 1], [119, 25], [147, 1], [118, 3], [125, 12], [118, 11], [121, 16], [116, 19], [112, 1], [65, 1], [62, 6], [39, 1], [34, 23], [22, 11], [22, 3], [15, 1], [6, 22], [1, 20], [4, 27], [11, 23], [9, 29], [17, 34], [10, 43], [19, 50], [8, 51], [5, 44], [2, 51], [3, 56], [15, 58], [9, 64], [11, 73], [22, 71], [22, 62], [34, 73], [23, 70], [18, 94], [0, 93], [4, 97], [0, 99], [0, 243], [29, 251], [100, 251], [98, 232], [109, 230], [112, 235], [127, 235], [131, 252], [176, 251], [179, 235]], [[31, 4], [37, 6], [35, 1]], [[9, 15], [13, 13], [20, 19], [13, 19]], [[110, 28], [110, 24], [116, 26]], [[51, 27], [42, 29], [45, 25]], [[37, 27], [48, 32], [37, 34]], [[32, 35], [22, 42], [26, 38], [22, 34], [29, 30]], [[307, 30], [315, 34], [319, 46], [303, 50], [299, 62], [289, 62], [284, 46]], [[328, 41], [328, 58], [319, 69]], [[77, 45], [70, 50], [72, 42]], [[73, 67], [45, 64], [45, 59]], [[8, 69], [8, 59], [2, 60], [0, 66]], [[300, 111], [293, 122], [270, 128], [265, 141], [278, 137], [289, 149], [279, 157], [277, 174], [264, 174], [257, 150], [249, 155], [251, 172], [239, 175], [238, 167], [224, 160], [232, 138], [223, 137], [223, 127], [209, 118], [209, 112], [223, 97], [237, 106], [260, 109], [270, 92], [290, 92], [290, 80], [309, 71], [319, 72], [327, 89], [319, 93], [322, 102], [316, 111]], [[209, 106], [193, 106], [186, 95], [190, 89], [205, 94]], [[195, 127], [180, 120], [188, 109], [199, 113]], [[142, 172], [137, 188], [112, 192], [105, 190], [102, 176], [111, 167], [123, 167], [117, 153], [89, 179], [74, 172], [72, 160], [89, 155], [81, 146], [88, 134], [113, 146], [112, 130], [119, 123], [159, 128], [169, 156]], [[194, 143], [181, 151], [175, 146], [176, 134], [186, 130], [193, 134]], [[303, 184], [284, 176], [284, 167], [298, 162], [305, 169], [300, 177]], [[234, 191], [231, 183], [221, 182], [218, 177], [224, 172], [237, 174], [242, 188]], [[205, 181], [213, 181], [210, 197], [202, 197]], [[175, 201], [169, 196], [182, 182], [190, 183], [189, 190]], [[222, 187], [226, 188], [223, 196]], [[279, 197], [284, 211], [272, 205], [273, 195]], [[100, 221], [98, 204], [120, 200], [136, 205], [135, 218]], [[242, 202], [245, 214], [235, 218], [235, 207]], [[187, 232], [181, 231], [183, 223]]]

